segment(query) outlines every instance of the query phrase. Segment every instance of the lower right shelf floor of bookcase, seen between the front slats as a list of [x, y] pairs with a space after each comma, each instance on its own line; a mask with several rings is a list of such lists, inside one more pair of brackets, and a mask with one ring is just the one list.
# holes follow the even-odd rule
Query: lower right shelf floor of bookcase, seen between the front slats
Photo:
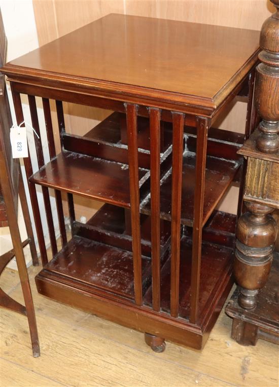
[[[185, 236], [181, 239], [180, 257], [180, 300], [179, 317], [189, 320], [191, 292], [192, 240]], [[214, 311], [213, 304], [218, 290], [228, 283], [232, 276], [233, 250], [222, 245], [202, 242], [199, 293], [199, 320], [202, 325], [206, 316]], [[210, 275], [208, 275], [210, 273]], [[144, 297], [145, 304], [152, 307], [152, 288]], [[170, 313], [170, 257], [161, 269], [161, 310]]]

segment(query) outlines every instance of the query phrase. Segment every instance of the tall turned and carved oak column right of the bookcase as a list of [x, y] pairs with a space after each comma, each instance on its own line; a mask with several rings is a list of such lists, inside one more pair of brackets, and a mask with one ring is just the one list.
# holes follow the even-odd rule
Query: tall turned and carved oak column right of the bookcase
[[263, 23], [256, 69], [255, 105], [262, 121], [239, 151], [247, 158], [248, 212], [237, 224], [234, 274], [245, 309], [256, 306], [266, 284], [277, 233], [271, 214], [279, 208], [279, 0], [271, 2], [277, 11]]

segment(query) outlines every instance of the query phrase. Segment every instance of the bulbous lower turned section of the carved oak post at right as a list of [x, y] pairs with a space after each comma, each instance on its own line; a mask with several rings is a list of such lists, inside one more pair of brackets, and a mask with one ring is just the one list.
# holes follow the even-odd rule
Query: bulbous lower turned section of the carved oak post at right
[[277, 227], [270, 215], [273, 208], [251, 202], [245, 204], [249, 212], [237, 223], [234, 275], [240, 287], [239, 305], [253, 309], [271, 268]]

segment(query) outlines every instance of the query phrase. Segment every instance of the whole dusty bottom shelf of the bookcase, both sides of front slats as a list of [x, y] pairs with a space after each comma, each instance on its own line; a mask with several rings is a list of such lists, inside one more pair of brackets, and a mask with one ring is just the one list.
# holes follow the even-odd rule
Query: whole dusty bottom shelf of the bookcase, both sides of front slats
[[[191, 248], [191, 241], [183, 237], [179, 315], [186, 320], [190, 312]], [[230, 275], [231, 262], [231, 249], [212, 243], [202, 244], [199, 300], [201, 320], [218, 293], [220, 284]], [[151, 260], [144, 256], [142, 268], [144, 301], [152, 307]], [[134, 297], [132, 253], [80, 236], [74, 236], [44, 270], [131, 300]], [[169, 305], [170, 258], [162, 264], [161, 269], [162, 311], [169, 313]]]

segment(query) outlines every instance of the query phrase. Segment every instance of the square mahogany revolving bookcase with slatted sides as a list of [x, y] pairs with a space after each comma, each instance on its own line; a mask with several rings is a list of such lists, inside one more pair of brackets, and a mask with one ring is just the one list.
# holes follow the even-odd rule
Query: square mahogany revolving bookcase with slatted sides
[[[240, 182], [241, 211], [237, 150], [257, 121], [258, 42], [257, 31], [111, 14], [4, 66], [18, 123], [27, 94], [40, 133], [38, 97], [43, 103], [50, 162], [36, 136], [39, 170], [24, 159], [43, 262], [36, 277], [41, 294], [145, 332], [155, 351], [164, 350], [164, 339], [203, 347], [233, 283], [236, 216], [216, 207]], [[237, 95], [248, 102], [244, 135], [215, 128]], [[110, 114], [84, 136], [78, 127], [69, 134], [63, 102]], [[50, 261], [36, 185], [43, 190]], [[104, 203], [86, 224], [75, 219], [73, 194]]]

